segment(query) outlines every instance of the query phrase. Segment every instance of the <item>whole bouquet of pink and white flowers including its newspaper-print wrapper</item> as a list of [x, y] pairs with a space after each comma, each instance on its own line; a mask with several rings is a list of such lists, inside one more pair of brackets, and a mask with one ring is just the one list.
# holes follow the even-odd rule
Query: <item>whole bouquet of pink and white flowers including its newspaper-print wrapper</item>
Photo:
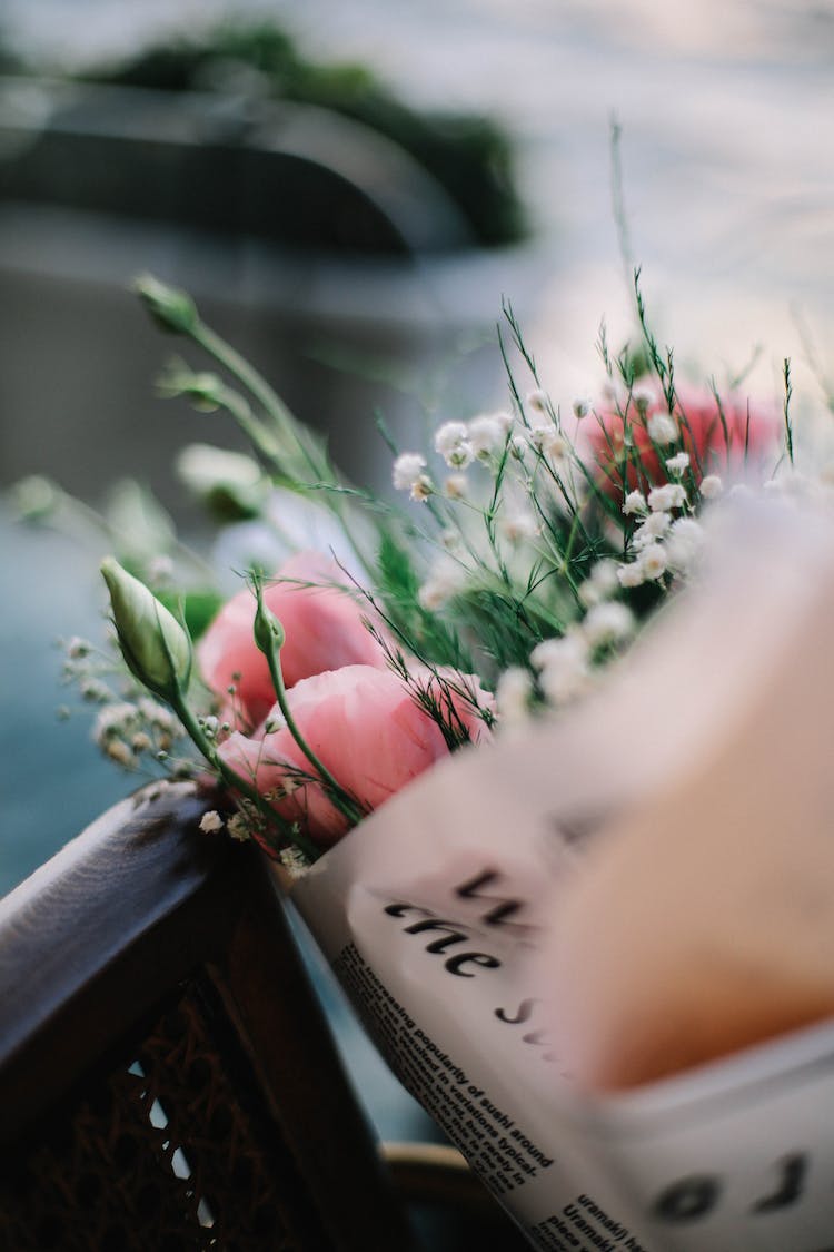
[[[790, 704], [781, 645], [808, 667], [833, 608], [834, 582], [805, 577], [834, 575], [828, 527], [788, 508], [828, 491], [794, 464], [789, 364], [781, 406], [740, 382], [679, 383], [636, 274], [636, 347], [613, 352], [603, 328], [600, 394], [563, 413], [506, 305], [508, 408], [444, 421], [426, 447], [391, 444], [388, 501], [340, 476], [188, 295], [153, 278], [138, 292], [218, 367], [178, 361], [163, 392], [225, 413], [251, 444], [251, 458], [200, 447], [181, 464], [235, 520], [219, 560], [245, 572], [225, 597], [205, 571], [181, 578], [170, 553], [104, 561], [124, 665], [80, 640], [66, 659], [99, 705], [103, 750], [223, 796], [206, 805], [206, 835], [255, 840], [275, 861], [395, 1072], [534, 1246], [818, 1247], [825, 1202], [805, 1203], [804, 1184], [811, 1148], [834, 1166], [831, 1144], [798, 1131], [775, 1151], [763, 1127], [789, 1103], [793, 1133], [820, 1084], [830, 1098], [830, 1029], [786, 1059], [765, 1048], [749, 1070], [715, 1058], [830, 1014], [831, 988], [821, 973], [775, 998], [728, 984], [735, 1007], [713, 1012], [688, 970], [703, 939], [693, 918], [720, 931], [720, 909], [698, 896], [709, 873], [694, 858], [689, 916], [670, 851], [711, 794], [704, 745], [711, 765], [756, 736], [773, 747], [773, 710]], [[766, 505], [745, 500], [759, 486]], [[716, 503], [729, 498], [735, 508]], [[306, 542], [278, 557], [294, 528]], [[691, 690], [673, 717], [681, 656]], [[699, 672], [709, 681], [693, 682]], [[728, 700], [749, 710], [754, 694], [755, 721], [725, 717]], [[820, 680], [808, 696], [820, 716], [826, 694]], [[773, 751], [759, 759], [778, 776]], [[811, 769], [808, 754], [785, 759], [796, 776]], [[716, 769], [730, 809], [733, 781]], [[775, 809], [750, 789], [753, 775], [748, 826], [770, 830]], [[739, 849], [738, 865], [714, 850], [728, 880], [758, 855], [750, 839]], [[651, 929], [659, 900], [678, 901], [679, 943]], [[735, 1139], [721, 1129], [728, 1090], [746, 1117]]]

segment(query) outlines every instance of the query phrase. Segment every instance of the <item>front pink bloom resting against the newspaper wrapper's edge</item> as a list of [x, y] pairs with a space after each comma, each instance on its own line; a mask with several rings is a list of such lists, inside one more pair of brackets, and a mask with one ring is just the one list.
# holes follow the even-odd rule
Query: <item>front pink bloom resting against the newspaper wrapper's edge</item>
[[[454, 679], [488, 706], [490, 697], [480, 691], [478, 680]], [[435, 682], [431, 680], [433, 687]], [[449, 752], [438, 724], [388, 670], [348, 665], [301, 679], [288, 692], [288, 701], [309, 747], [365, 811], [384, 804]], [[465, 696], [453, 694], [451, 701], [454, 720], [465, 725], [473, 741], [489, 736]], [[274, 716], [280, 716], [278, 707]], [[313, 772], [313, 766], [286, 727], [273, 734], [261, 727], [251, 737], [235, 732], [220, 754], [235, 772], [254, 781], [261, 795], [273, 793], [275, 810], [289, 821], [300, 821], [315, 841], [331, 844], [348, 830], [346, 818], [320, 784], [294, 786], [295, 771]], [[281, 794], [284, 786], [288, 794]]]

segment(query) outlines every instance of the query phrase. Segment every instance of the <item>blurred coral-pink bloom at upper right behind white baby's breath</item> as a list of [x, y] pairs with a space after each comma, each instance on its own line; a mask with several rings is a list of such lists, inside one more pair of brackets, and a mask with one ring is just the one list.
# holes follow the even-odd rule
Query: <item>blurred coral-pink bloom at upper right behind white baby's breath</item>
[[[733, 393], [721, 397], [719, 412], [711, 392], [685, 387], [676, 389], [676, 398], [671, 421], [679, 428], [680, 438], [669, 446], [668, 456], [683, 447], [689, 453], [690, 471], [696, 483], [711, 473], [739, 473], [745, 461], [760, 463], [774, 449], [778, 421], [770, 406], [749, 404], [743, 396]], [[629, 459], [625, 490], [646, 491], [669, 482], [664, 464], [664, 439], [656, 436], [653, 438], [650, 429], [651, 418], [663, 414], [668, 416], [669, 409], [658, 387], [654, 398], [640, 409], [631, 401], [625, 419], [616, 409], [600, 409], [596, 423], [588, 418], [591, 456], [603, 471], [600, 486], [606, 495], [619, 498], [623, 492], [621, 452], [626, 426], [639, 452], [639, 466]]]

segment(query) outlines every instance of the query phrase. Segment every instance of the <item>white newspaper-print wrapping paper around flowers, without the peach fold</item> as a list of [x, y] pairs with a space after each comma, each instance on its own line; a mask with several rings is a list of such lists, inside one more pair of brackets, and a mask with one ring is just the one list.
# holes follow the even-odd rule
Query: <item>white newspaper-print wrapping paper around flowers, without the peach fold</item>
[[[828, 651], [826, 526], [754, 510], [714, 542], [709, 577], [604, 694], [435, 769], [293, 893], [395, 1073], [543, 1249], [834, 1247], [834, 1024], [580, 1101], [548, 1042], [531, 960], [589, 840], [639, 814], [659, 780], [674, 785], [716, 735], [731, 747], [745, 701], [790, 664], [809, 615]], [[826, 684], [834, 705], [833, 670], [823, 662], [820, 697]], [[653, 731], [650, 752], [630, 750], [638, 727]]]

